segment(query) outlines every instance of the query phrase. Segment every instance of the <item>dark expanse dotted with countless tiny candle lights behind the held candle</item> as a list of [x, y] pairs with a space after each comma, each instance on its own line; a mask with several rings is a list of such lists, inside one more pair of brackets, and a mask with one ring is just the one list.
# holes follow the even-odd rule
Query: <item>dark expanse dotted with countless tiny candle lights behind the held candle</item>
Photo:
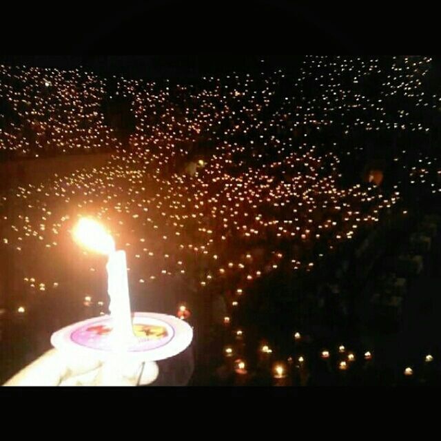
[[72, 238], [88, 217], [132, 311], [193, 327], [190, 385], [438, 384], [438, 64], [0, 65], [0, 381], [108, 314], [105, 256]]

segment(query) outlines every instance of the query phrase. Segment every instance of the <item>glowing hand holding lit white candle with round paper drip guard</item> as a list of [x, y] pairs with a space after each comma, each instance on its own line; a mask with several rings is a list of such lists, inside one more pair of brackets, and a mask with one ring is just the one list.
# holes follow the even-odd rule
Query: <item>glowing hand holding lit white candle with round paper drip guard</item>
[[150, 384], [158, 376], [156, 360], [183, 352], [192, 342], [192, 327], [165, 314], [132, 314], [125, 252], [116, 251], [112, 236], [92, 219], [81, 218], [72, 235], [88, 249], [108, 256], [110, 316], [54, 332], [50, 341], [56, 350], [48, 351], [7, 384]]

